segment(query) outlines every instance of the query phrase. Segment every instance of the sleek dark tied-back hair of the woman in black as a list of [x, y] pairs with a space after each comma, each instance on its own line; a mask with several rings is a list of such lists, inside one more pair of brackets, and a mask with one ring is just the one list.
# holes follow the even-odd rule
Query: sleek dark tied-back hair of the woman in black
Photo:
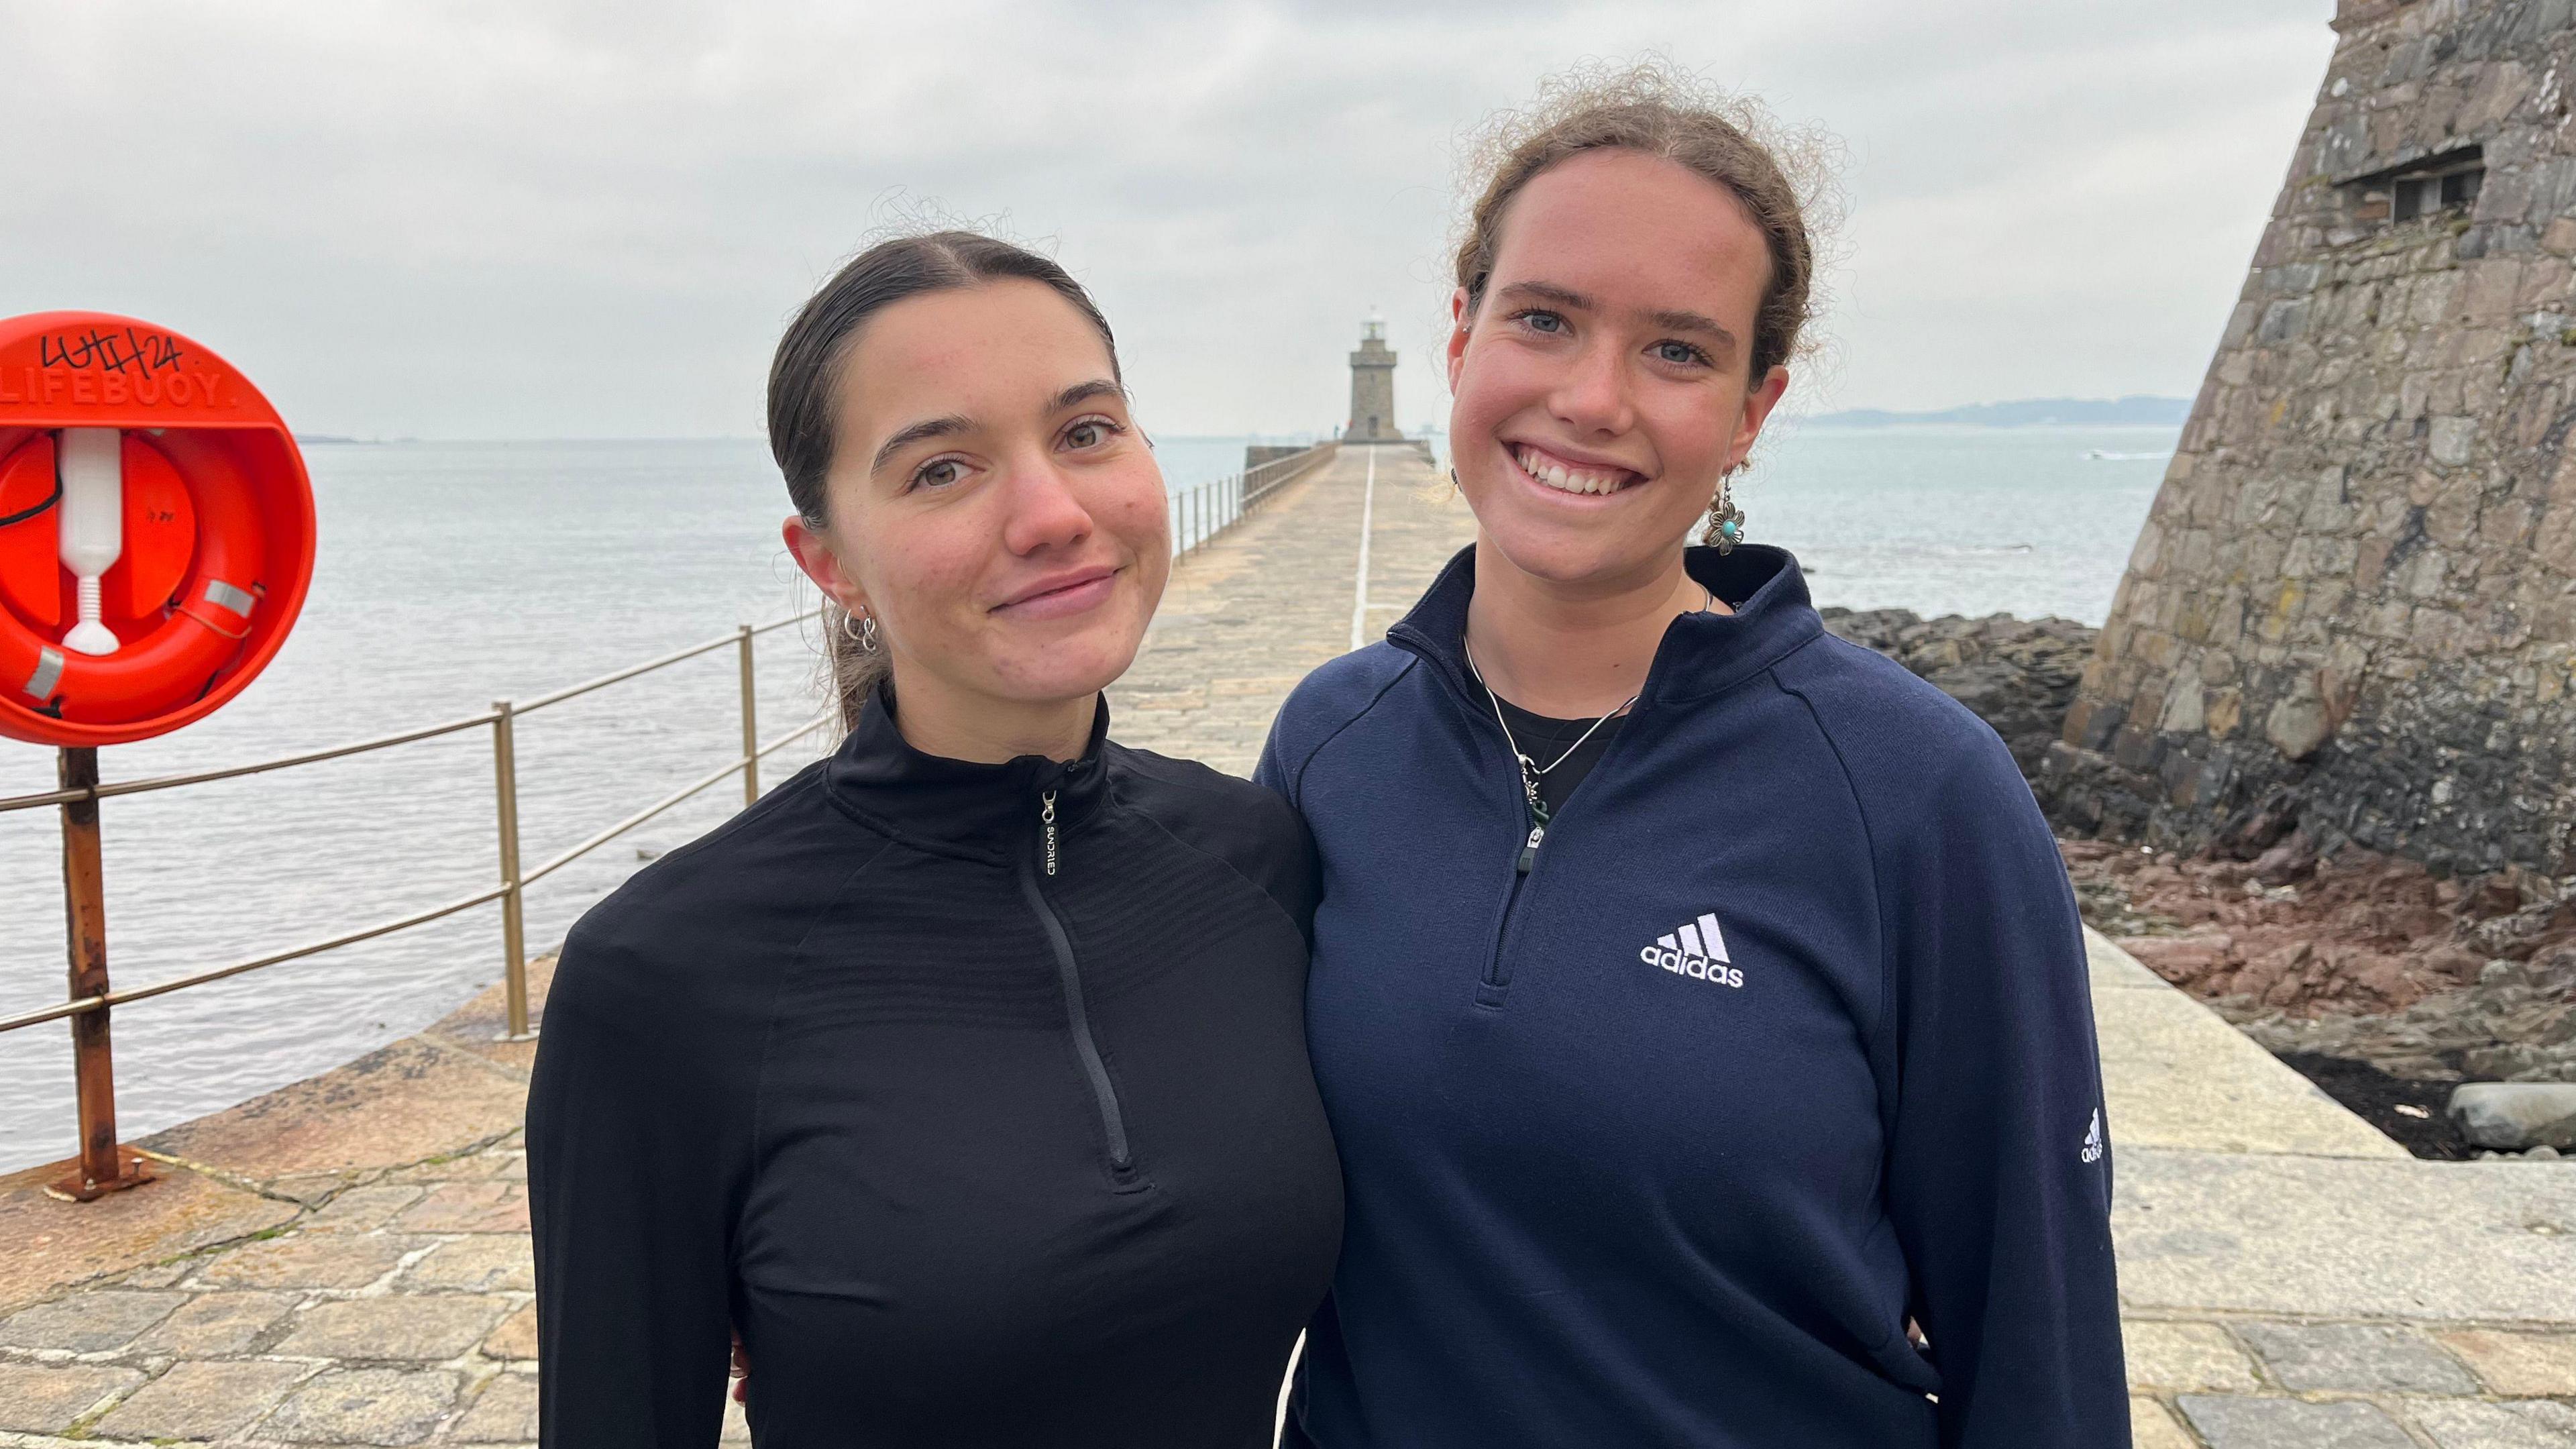
[[[770, 456], [788, 482], [796, 516], [817, 534], [832, 531], [829, 474], [840, 441], [840, 405], [850, 384], [850, 353], [858, 333], [876, 312], [909, 297], [956, 291], [992, 281], [1036, 281], [1064, 297], [1100, 333], [1110, 353], [1110, 379], [1118, 374], [1118, 340], [1108, 317], [1061, 266], [1028, 248], [981, 232], [945, 227], [896, 235], [850, 258], [814, 297], [806, 299], [778, 353], [770, 358]], [[835, 534], [840, 549], [860, 547], [848, 529]], [[840, 709], [840, 727], [855, 730], [876, 683], [886, 678], [886, 645], [860, 650], [858, 621], [832, 598], [822, 606], [822, 657], [827, 688]]]

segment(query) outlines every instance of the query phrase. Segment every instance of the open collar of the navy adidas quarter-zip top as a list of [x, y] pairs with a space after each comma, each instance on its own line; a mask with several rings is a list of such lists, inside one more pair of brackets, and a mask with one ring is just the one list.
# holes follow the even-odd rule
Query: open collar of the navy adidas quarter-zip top
[[[1685, 704], [1734, 688], [1770, 668], [1790, 650], [1824, 632], [1824, 619], [1806, 596], [1806, 578], [1788, 549], [1736, 544], [1685, 549], [1682, 570], [1708, 585], [1734, 614], [1682, 614], [1664, 629], [1664, 642], [1646, 668], [1638, 709]], [[1466, 603], [1476, 596], [1476, 544], [1458, 549], [1386, 642], [1422, 655], [1479, 712], [1484, 688], [1466, 668]]]

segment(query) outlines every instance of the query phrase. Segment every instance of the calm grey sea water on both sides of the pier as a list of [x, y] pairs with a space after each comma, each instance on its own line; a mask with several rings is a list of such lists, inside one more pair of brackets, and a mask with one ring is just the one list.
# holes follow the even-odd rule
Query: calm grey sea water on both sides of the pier
[[[1162, 438], [1175, 490], [1247, 441]], [[1739, 487], [1819, 603], [2099, 621], [2172, 428], [1790, 428]], [[2107, 456], [2094, 456], [2107, 454]], [[294, 637], [219, 714], [100, 750], [111, 781], [219, 768], [469, 717], [814, 606], [778, 539], [757, 441], [312, 446], [319, 565]], [[762, 737], [811, 719], [811, 624], [757, 645]], [[518, 722], [523, 864], [739, 750], [737, 655], [716, 650]], [[811, 745], [762, 763], [778, 781]], [[286, 949], [497, 879], [492, 735], [466, 730], [281, 773], [100, 802], [108, 967], [121, 987]], [[0, 740], [0, 797], [54, 789], [54, 753]], [[724, 781], [528, 890], [541, 954], [644, 859], [742, 804]], [[124, 1137], [185, 1122], [417, 1031], [500, 980], [497, 908], [116, 1011]], [[64, 998], [54, 810], [0, 815], [0, 1016]], [[0, 1034], [0, 1171], [67, 1158], [70, 1029]]]

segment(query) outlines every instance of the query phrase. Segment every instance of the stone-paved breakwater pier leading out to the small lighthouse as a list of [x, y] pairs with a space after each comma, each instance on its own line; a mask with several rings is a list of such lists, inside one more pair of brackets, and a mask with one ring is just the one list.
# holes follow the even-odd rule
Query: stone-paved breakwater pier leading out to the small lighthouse
[[[1419, 451], [1345, 446], [1175, 567], [1115, 735], [1249, 771], [1466, 539]], [[2089, 949], [2141, 1449], [2576, 1446], [2576, 1171], [2414, 1160]], [[500, 1036], [489, 993], [93, 1204], [0, 1178], [0, 1446], [531, 1444], [533, 1044]]]

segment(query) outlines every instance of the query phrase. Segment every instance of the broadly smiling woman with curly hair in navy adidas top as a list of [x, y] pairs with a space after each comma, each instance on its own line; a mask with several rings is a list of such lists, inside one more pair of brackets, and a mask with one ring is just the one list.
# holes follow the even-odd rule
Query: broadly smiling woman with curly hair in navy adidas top
[[1757, 131], [1664, 70], [1507, 124], [1448, 340], [1476, 544], [1270, 735], [1347, 1181], [1291, 1444], [2128, 1444], [2050, 833], [1739, 541], [1814, 266]]

